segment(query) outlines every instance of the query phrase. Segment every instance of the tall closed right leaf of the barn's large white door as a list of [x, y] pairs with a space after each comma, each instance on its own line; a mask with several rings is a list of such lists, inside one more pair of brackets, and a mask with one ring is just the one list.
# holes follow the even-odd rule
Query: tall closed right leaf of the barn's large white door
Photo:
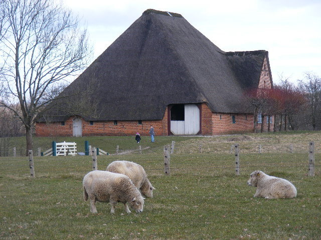
[[185, 135], [195, 135], [200, 131], [200, 109], [195, 104], [185, 105]]

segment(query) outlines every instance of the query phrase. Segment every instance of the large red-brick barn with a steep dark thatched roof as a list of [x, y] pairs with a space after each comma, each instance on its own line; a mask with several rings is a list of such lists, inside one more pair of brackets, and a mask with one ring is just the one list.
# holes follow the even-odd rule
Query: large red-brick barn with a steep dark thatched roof
[[148, 9], [65, 89], [94, 87], [98, 114], [51, 109], [36, 135], [252, 131], [244, 92], [271, 85], [267, 51], [225, 52], [181, 14]]

